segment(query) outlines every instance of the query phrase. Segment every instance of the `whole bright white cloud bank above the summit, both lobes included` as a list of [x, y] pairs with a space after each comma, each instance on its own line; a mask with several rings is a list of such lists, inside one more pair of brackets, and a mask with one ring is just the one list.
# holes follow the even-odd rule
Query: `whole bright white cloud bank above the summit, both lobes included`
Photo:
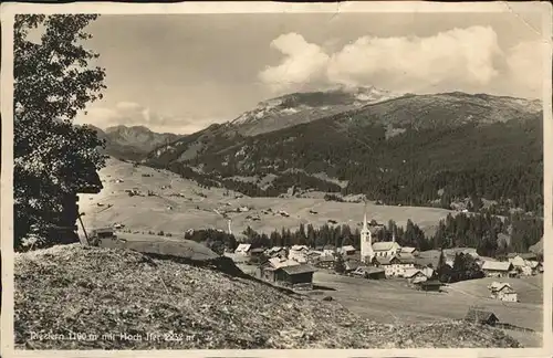
[[[497, 56], [502, 55], [491, 27], [471, 27], [436, 35], [362, 36], [325, 52], [298, 33], [273, 40], [281, 63], [267, 67], [259, 78], [276, 91], [293, 90], [305, 82], [319, 84], [377, 85], [395, 91], [486, 86], [498, 77]], [[328, 49], [324, 44], [324, 49]]]

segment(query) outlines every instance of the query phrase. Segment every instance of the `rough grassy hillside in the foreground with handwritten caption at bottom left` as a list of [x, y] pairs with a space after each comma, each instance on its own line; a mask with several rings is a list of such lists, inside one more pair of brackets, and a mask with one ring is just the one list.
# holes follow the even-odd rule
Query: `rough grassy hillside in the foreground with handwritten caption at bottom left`
[[[520, 347], [498, 329], [463, 322], [376, 324], [335, 302], [128, 250], [74, 244], [17, 254], [14, 280], [17, 348]], [[88, 336], [67, 339], [71, 331]]]

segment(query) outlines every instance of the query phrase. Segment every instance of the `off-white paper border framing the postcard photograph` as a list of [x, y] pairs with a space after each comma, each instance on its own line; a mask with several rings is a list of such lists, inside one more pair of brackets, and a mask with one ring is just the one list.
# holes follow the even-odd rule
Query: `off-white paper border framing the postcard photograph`
[[[347, 2], [347, 3], [278, 3], [278, 2], [184, 2], [184, 3], [67, 3], [67, 4], [31, 4], [8, 3], [1, 4], [2, 24], [2, 67], [1, 67], [1, 113], [2, 120], [2, 162], [1, 162], [1, 225], [2, 238], [2, 315], [1, 315], [1, 352], [4, 357], [291, 357], [291, 356], [316, 356], [317, 358], [336, 357], [389, 357], [389, 356], [414, 356], [414, 357], [551, 357], [553, 355], [552, 343], [552, 296], [553, 296], [553, 244], [550, 244], [553, 233], [552, 222], [552, 196], [553, 178], [551, 176], [552, 161], [552, 6], [550, 2], [459, 2], [459, 3], [435, 3], [435, 2]], [[524, 12], [543, 13], [543, 52], [544, 52], [544, 82], [543, 82], [543, 108], [544, 108], [544, 214], [545, 236], [544, 257], [546, 261], [544, 273], [544, 347], [528, 349], [311, 349], [311, 350], [13, 350], [13, 123], [8, 118], [13, 117], [13, 14], [15, 13], [102, 13], [102, 14], [199, 14], [199, 13], [351, 13], [351, 12], [511, 12], [521, 17]]]

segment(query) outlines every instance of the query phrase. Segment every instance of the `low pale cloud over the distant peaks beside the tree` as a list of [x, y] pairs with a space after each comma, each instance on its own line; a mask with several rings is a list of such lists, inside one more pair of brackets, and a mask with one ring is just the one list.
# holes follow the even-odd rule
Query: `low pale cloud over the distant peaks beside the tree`
[[114, 107], [92, 107], [81, 113], [75, 124], [91, 124], [100, 128], [112, 126], [145, 126], [154, 131], [194, 133], [212, 124], [213, 118], [188, 119], [164, 115], [133, 102], [119, 102]]

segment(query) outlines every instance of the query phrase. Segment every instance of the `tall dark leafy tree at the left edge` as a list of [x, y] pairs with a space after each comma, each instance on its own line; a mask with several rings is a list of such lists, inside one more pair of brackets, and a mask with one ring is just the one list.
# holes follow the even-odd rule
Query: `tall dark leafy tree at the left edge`
[[[14, 249], [49, 245], [48, 229], [60, 222], [64, 200], [83, 171], [102, 168], [103, 141], [72, 125], [87, 103], [102, 97], [105, 72], [88, 69], [98, 54], [81, 42], [95, 14], [21, 14], [13, 39]], [[30, 32], [41, 33], [33, 39]], [[65, 199], [64, 199], [65, 198]], [[30, 235], [32, 233], [32, 235]]]

